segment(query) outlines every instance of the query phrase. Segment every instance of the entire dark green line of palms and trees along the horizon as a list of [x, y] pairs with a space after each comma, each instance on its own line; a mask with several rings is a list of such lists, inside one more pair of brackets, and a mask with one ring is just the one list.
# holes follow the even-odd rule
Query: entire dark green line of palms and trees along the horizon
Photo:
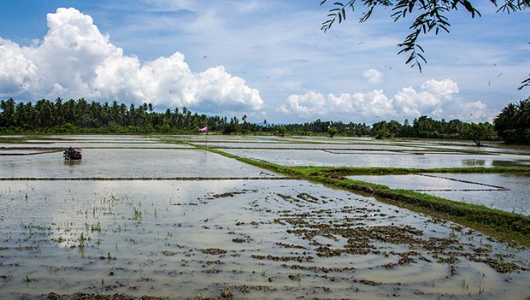
[[372, 136], [376, 139], [412, 137], [429, 139], [472, 139], [480, 145], [484, 140], [502, 137], [509, 143], [530, 141], [530, 98], [511, 103], [490, 123], [466, 123], [458, 119], [435, 120], [422, 116], [409, 123], [380, 121], [371, 126], [366, 123], [322, 121], [275, 125], [250, 123], [246, 115], [241, 119], [206, 116], [190, 112], [187, 108], [155, 112], [153, 106], [140, 106], [113, 101], [112, 103], [39, 100], [17, 102], [0, 101], [0, 132], [10, 133], [196, 133], [197, 128], [208, 126], [208, 131], [222, 134], [328, 134], [342, 136]]

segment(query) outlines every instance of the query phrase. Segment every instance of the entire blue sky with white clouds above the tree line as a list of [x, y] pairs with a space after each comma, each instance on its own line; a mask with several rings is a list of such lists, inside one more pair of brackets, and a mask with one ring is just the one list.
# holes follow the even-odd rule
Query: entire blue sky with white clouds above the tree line
[[[528, 11], [495, 13], [482, 1], [480, 18], [451, 12], [450, 34], [422, 37], [429, 63], [420, 73], [397, 55], [412, 19], [393, 23], [390, 10], [377, 10], [360, 24], [359, 9], [324, 34], [330, 6], [318, 3], [8, 1], [0, 11], [9, 58], [0, 63], [7, 74], [0, 95], [151, 101], [251, 121], [371, 123], [420, 114], [488, 121], [530, 94], [516, 90], [530, 73]], [[51, 32], [47, 14], [59, 31]], [[91, 19], [71, 21], [79, 16]]]

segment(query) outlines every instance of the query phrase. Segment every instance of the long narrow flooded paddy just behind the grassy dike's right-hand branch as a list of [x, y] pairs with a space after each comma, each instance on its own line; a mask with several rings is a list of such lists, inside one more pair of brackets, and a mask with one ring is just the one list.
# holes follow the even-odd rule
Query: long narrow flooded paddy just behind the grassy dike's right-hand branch
[[530, 166], [530, 157], [516, 154], [395, 154], [378, 155], [355, 152], [344, 154], [322, 150], [245, 150], [224, 149], [226, 152], [252, 159], [262, 159], [288, 166], [352, 166], [352, 167], [491, 167]]

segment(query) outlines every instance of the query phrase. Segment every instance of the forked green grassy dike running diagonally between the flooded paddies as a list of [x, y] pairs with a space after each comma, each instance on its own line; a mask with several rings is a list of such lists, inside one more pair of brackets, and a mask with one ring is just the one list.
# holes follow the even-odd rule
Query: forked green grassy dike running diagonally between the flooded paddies
[[208, 150], [224, 157], [237, 159], [259, 168], [264, 168], [291, 177], [298, 177], [309, 181], [324, 183], [328, 186], [351, 190], [353, 192], [364, 192], [382, 199], [384, 202], [392, 203], [461, 223], [475, 230], [480, 230], [494, 237], [511, 239], [530, 245], [530, 217], [513, 212], [505, 212], [481, 206], [477, 204], [451, 201], [429, 194], [414, 192], [412, 190], [392, 189], [375, 183], [346, 179], [343, 176], [351, 174], [414, 174], [420, 172], [467, 172], [467, 173], [517, 173], [530, 174], [530, 168], [348, 168], [348, 167], [300, 167], [280, 166], [266, 161], [257, 161], [239, 157], [234, 154], [223, 152], [219, 149], [205, 146], [192, 145], [196, 148]]

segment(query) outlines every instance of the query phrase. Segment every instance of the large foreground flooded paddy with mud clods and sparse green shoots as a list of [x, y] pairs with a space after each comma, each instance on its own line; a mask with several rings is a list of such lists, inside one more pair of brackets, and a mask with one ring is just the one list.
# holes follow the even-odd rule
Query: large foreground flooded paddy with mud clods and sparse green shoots
[[527, 248], [305, 181], [4, 181], [0, 208], [3, 299], [529, 292]]

